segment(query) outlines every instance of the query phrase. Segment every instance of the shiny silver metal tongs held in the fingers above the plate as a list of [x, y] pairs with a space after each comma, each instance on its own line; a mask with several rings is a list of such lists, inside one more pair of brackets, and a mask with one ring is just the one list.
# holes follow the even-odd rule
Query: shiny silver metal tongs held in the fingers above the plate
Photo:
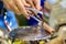
[[36, 14], [36, 16], [34, 16], [34, 14], [32, 15], [30, 15], [31, 18], [33, 18], [33, 19], [35, 19], [38, 23], [41, 22], [41, 21], [43, 21], [44, 22], [44, 13], [42, 12], [42, 11], [38, 11], [38, 10], [36, 10], [36, 9], [33, 9], [33, 8], [26, 8], [26, 10], [30, 10], [30, 11], [34, 11], [34, 12], [36, 12], [36, 13], [40, 13], [41, 15], [42, 15], [42, 18], [38, 15], [38, 14]]

